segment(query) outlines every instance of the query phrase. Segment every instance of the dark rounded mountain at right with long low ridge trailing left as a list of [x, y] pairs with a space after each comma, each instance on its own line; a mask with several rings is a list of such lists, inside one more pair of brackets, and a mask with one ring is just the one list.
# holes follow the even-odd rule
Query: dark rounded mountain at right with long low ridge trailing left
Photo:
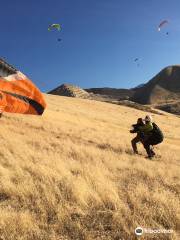
[[140, 104], [159, 104], [178, 100], [180, 99], [180, 65], [164, 68], [149, 82], [133, 89], [90, 88], [86, 91], [116, 100], [129, 99]]

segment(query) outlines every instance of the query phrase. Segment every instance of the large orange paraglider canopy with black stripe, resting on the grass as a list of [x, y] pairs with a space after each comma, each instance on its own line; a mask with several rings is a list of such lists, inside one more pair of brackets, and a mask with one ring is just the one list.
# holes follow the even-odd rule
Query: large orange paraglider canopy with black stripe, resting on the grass
[[23, 73], [0, 76], [0, 113], [42, 115], [45, 108], [42, 93]]

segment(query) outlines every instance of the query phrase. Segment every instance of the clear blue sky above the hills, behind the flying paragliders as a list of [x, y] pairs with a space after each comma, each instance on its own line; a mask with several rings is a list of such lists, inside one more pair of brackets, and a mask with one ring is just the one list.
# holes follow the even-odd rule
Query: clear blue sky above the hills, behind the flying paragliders
[[[179, 9], [179, 0], [1, 1], [0, 56], [42, 91], [131, 88], [180, 63]], [[48, 32], [51, 23], [62, 30]]]

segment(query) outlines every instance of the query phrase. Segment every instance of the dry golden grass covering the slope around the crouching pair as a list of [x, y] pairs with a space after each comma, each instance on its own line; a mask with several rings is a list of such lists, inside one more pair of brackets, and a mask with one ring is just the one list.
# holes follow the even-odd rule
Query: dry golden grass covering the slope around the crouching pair
[[153, 161], [134, 156], [129, 133], [146, 113], [46, 96], [42, 117], [0, 120], [0, 239], [133, 240], [137, 226], [180, 239], [180, 119], [154, 115], [165, 133]]

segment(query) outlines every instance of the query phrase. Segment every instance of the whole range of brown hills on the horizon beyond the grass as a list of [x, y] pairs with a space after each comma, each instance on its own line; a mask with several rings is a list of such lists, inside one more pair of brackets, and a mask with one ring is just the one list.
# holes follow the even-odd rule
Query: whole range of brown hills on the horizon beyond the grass
[[88, 98], [99, 101], [122, 104], [130, 101], [138, 104], [150, 104], [159, 109], [180, 114], [180, 65], [168, 66], [145, 84], [132, 89], [89, 88], [63, 84], [50, 94]]

